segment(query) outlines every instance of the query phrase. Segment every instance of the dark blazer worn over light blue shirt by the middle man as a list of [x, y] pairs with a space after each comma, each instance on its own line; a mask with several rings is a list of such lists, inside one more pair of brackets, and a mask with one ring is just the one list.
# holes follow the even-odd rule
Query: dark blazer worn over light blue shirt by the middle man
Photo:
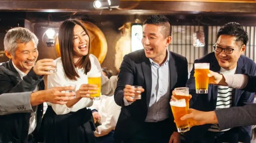
[[[170, 52], [169, 67], [171, 93], [174, 88], [184, 87], [186, 84], [188, 79], [187, 59], [181, 55]], [[145, 92], [142, 93], [142, 99], [135, 101], [129, 106], [125, 106], [123, 101], [123, 89], [126, 84], [142, 86], [145, 89]], [[122, 107], [114, 132], [115, 140], [129, 138], [140, 129], [141, 124], [144, 123], [147, 116], [151, 88], [151, 64], [149, 58], [145, 56], [144, 49], [127, 54], [121, 64], [119, 79], [114, 94], [116, 104]], [[171, 94], [169, 98], [171, 99]], [[171, 108], [170, 122], [172, 122], [172, 126], [166, 128], [173, 128], [173, 131], [177, 130], [173, 122]]]

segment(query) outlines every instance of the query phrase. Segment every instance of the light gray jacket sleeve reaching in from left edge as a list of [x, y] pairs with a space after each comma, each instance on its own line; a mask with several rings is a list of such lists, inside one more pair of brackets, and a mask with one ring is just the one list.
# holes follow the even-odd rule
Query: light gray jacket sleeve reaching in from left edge
[[[32, 92], [3, 93], [0, 95], [0, 115], [12, 113], [32, 113], [35, 111], [30, 104]], [[17, 96], [19, 98], [17, 98]]]

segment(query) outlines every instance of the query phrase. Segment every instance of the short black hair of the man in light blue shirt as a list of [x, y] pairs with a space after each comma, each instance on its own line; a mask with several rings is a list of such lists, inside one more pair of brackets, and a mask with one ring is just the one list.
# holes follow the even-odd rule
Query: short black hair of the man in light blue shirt
[[171, 36], [171, 24], [169, 23], [169, 19], [164, 15], [152, 15], [148, 17], [143, 24], [154, 24], [161, 26], [163, 35], [165, 37]]

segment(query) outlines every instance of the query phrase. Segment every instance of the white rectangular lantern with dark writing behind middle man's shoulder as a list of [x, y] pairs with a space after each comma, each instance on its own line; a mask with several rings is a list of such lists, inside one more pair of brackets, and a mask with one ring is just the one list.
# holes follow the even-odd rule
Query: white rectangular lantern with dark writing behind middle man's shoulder
[[142, 24], [140, 23], [135, 23], [131, 24], [131, 52], [135, 50], [140, 50], [144, 49], [142, 45], [142, 35], [143, 30], [142, 30]]

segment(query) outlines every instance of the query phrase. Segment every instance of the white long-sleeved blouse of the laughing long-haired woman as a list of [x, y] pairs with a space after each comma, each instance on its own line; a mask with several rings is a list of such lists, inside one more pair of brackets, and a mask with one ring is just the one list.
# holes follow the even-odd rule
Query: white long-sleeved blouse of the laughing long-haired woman
[[[99, 72], [99, 69], [101, 70], [100, 63], [98, 59], [90, 54], [89, 56], [90, 62], [92, 64], [91, 70], [88, 72], [88, 74]], [[47, 76], [47, 89], [52, 87], [60, 87], [65, 86], [65, 84], [76, 84], [76, 91], [80, 88], [81, 84], [88, 84], [88, 76], [84, 74], [82, 69], [77, 69], [78, 75], [80, 78], [77, 78], [76, 81], [70, 80], [66, 77], [64, 68], [62, 65], [61, 57], [55, 59], [57, 62], [57, 72], [54, 72], [51, 75]], [[106, 76], [104, 76], [101, 72], [101, 92], [111, 96], [114, 94], [114, 90], [116, 89], [116, 82], [117, 77], [112, 76], [111, 79], [108, 79]], [[55, 111], [56, 114], [67, 114], [69, 112], [76, 112], [79, 109], [92, 106], [93, 101], [90, 98], [82, 98], [80, 101], [78, 101], [72, 108], [68, 108], [66, 104], [60, 105], [60, 104], [53, 104], [47, 102], [48, 105], [52, 106], [52, 109]]]

